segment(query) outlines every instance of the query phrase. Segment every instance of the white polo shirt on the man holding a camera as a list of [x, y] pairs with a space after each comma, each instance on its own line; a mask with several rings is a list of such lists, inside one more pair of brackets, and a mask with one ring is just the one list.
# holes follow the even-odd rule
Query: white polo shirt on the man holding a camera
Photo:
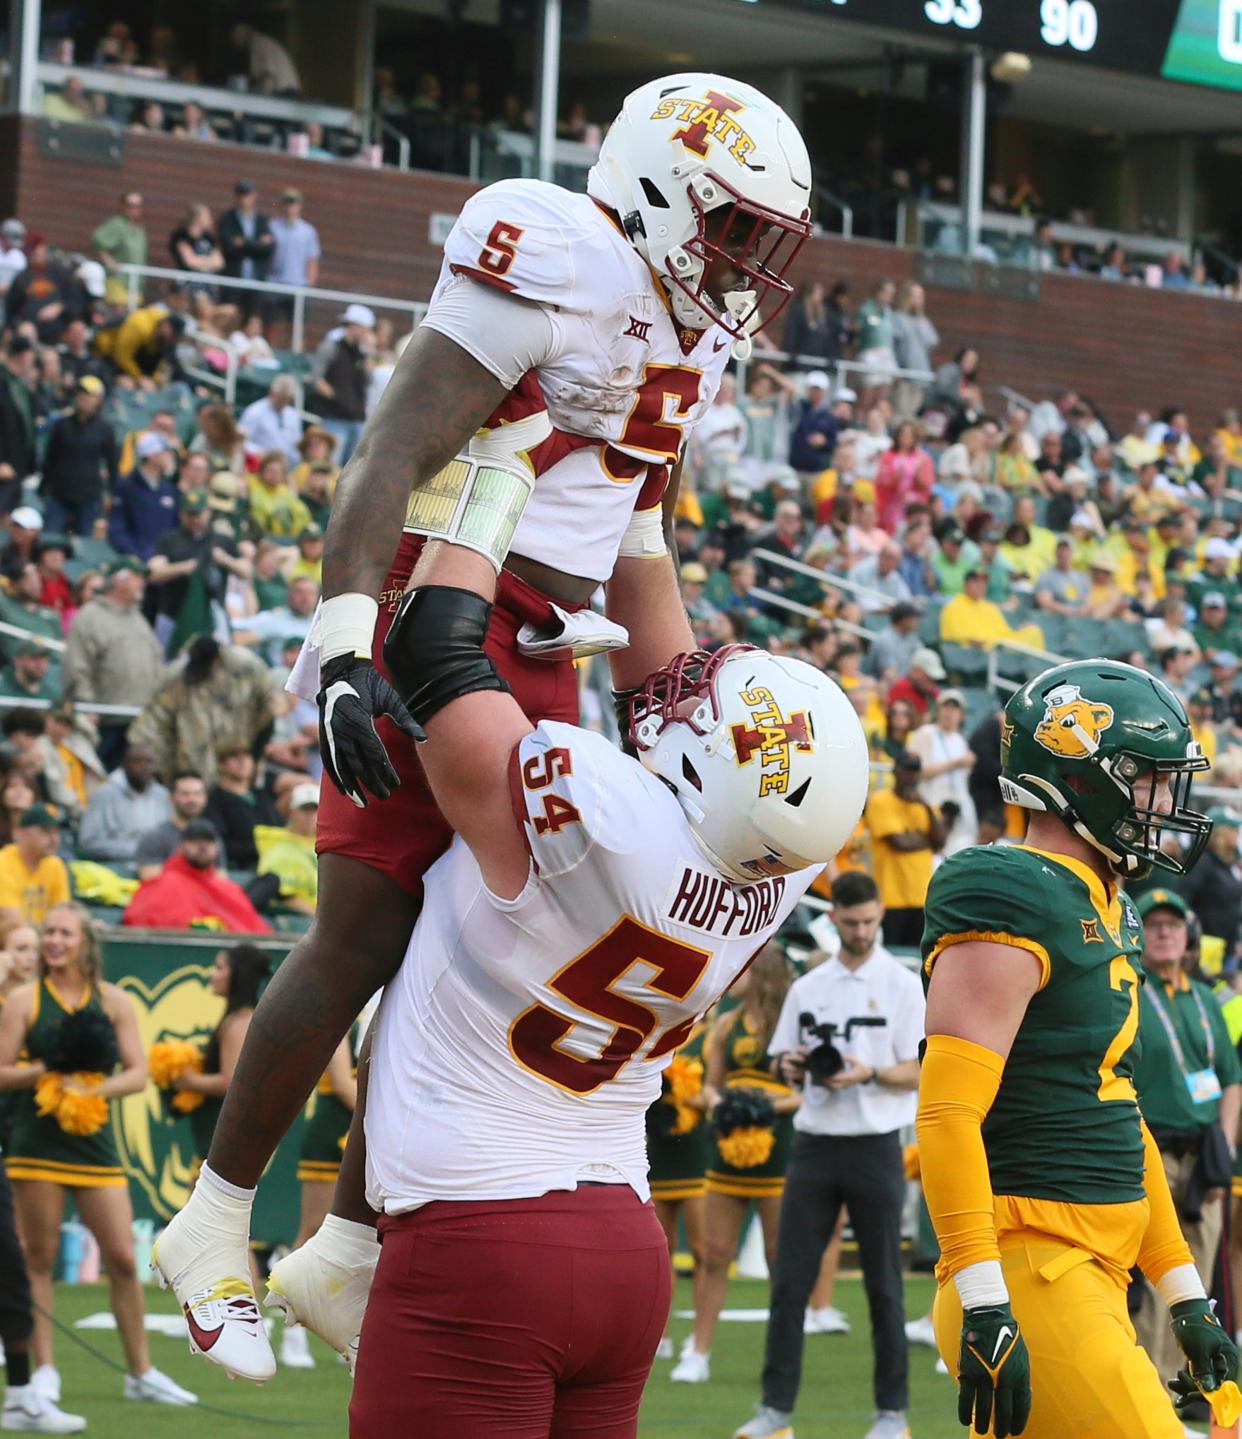
[[[923, 1012], [918, 976], [876, 945], [856, 970], [833, 958], [794, 980], [769, 1049], [783, 1053], [803, 1043], [813, 1045], [815, 1036], [806, 1022], [806, 1016], [813, 1016], [815, 1025], [836, 1026], [832, 1042], [842, 1055], [888, 1069], [918, 1058]], [[803, 1134], [891, 1134], [914, 1124], [917, 1108], [914, 1089], [891, 1089], [872, 1081], [838, 1091], [807, 1079], [793, 1124]]]

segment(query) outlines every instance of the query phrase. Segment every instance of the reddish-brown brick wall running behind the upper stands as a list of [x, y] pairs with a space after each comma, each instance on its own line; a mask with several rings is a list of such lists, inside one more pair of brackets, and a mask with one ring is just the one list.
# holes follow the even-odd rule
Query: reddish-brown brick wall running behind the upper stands
[[[16, 153], [17, 164], [9, 158]], [[455, 212], [468, 180], [299, 160], [239, 145], [127, 135], [119, 165], [50, 154], [35, 121], [0, 119], [0, 213], [19, 213], [58, 243], [85, 248], [94, 226], [114, 213], [122, 187], [147, 197], [154, 263], [167, 263], [166, 237], [184, 204], [226, 206], [237, 176], [248, 176], [271, 206], [286, 184], [307, 197], [307, 216], [324, 245], [321, 283], [393, 298], [425, 299], [439, 269], [427, 237], [432, 213]], [[845, 278], [861, 299], [878, 275], [914, 275], [917, 256], [891, 245], [813, 240], [800, 278]], [[1196, 427], [1242, 403], [1242, 307], [1199, 295], [1043, 276], [1036, 301], [982, 291], [928, 288], [928, 311], [951, 354], [976, 344], [989, 386], [1032, 397], [1061, 386], [1091, 394], [1124, 427], [1136, 406], [1190, 410]]]

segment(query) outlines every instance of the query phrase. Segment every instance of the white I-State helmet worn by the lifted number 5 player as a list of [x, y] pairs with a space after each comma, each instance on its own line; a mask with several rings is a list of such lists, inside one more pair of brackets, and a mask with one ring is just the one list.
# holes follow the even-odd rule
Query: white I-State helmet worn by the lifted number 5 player
[[[753, 85], [665, 75], [627, 95], [587, 177], [656, 272], [676, 319], [748, 337], [784, 305], [810, 235], [810, 157], [797, 125]], [[745, 288], [714, 298], [712, 260]]]

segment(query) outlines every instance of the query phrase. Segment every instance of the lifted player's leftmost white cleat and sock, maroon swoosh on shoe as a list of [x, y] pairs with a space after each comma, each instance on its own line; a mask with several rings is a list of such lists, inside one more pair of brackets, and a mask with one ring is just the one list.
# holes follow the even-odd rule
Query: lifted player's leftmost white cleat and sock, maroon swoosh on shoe
[[276, 1356], [250, 1284], [249, 1239], [249, 1206], [200, 1180], [151, 1246], [151, 1269], [177, 1295], [190, 1353], [262, 1384], [276, 1373]]

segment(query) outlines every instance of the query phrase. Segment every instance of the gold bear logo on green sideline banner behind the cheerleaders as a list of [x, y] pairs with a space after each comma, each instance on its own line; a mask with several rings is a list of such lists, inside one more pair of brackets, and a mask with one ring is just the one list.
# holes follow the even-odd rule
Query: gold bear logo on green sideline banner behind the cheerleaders
[[[118, 980], [138, 1012], [144, 1052], [161, 1039], [207, 1042], [225, 1004], [207, 987], [210, 973], [210, 964], [184, 964], [154, 987], [132, 974]], [[194, 1181], [187, 1125], [170, 1118], [160, 1091], [148, 1084], [115, 1105], [112, 1128], [130, 1179], [142, 1186], [161, 1219], [171, 1219]]]

